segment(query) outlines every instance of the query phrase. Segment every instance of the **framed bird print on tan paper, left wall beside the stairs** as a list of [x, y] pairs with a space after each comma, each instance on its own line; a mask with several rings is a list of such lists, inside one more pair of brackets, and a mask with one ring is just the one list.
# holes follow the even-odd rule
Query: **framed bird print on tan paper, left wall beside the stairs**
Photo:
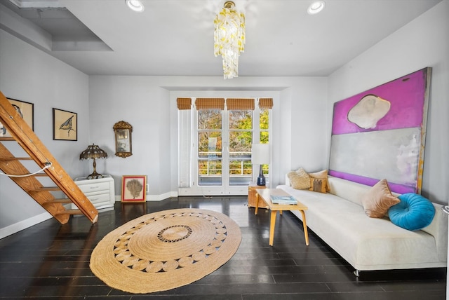
[[62, 109], [53, 109], [53, 139], [78, 140], [78, 114]]

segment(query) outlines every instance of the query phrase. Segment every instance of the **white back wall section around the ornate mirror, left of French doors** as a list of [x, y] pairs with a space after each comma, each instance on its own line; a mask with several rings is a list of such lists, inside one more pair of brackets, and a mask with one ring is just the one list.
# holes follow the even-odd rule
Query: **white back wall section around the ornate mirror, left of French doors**
[[[147, 200], [170, 196], [170, 103], [168, 90], [152, 76], [91, 76], [90, 139], [108, 153], [97, 163], [100, 173], [114, 177], [121, 195], [122, 175], [147, 175]], [[132, 152], [115, 156], [113, 126], [126, 121], [133, 126]]]

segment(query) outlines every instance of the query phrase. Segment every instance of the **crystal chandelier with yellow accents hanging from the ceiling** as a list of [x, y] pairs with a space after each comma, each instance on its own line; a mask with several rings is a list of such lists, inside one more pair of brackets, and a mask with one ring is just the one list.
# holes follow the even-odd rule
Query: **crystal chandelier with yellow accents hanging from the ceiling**
[[214, 54], [222, 55], [223, 76], [232, 79], [239, 76], [239, 55], [245, 50], [245, 15], [235, 9], [232, 1], [226, 1], [214, 20]]

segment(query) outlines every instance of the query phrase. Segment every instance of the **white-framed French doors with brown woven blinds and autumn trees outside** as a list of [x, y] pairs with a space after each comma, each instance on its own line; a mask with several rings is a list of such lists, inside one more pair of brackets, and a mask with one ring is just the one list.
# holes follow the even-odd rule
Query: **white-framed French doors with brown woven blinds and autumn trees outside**
[[[185, 107], [192, 110], [180, 109], [179, 99], [189, 99]], [[246, 186], [259, 174], [251, 163], [253, 141], [269, 141], [272, 102], [197, 98], [192, 107], [190, 98], [179, 99], [180, 195], [200, 195], [205, 189], [211, 194], [245, 195]], [[268, 165], [264, 175], [269, 176]]]

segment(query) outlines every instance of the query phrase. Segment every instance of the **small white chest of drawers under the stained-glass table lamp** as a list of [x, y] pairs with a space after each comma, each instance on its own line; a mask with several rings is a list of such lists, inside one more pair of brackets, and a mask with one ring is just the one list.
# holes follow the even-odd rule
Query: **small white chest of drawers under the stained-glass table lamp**
[[[91, 200], [96, 209], [114, 207], [114, 178], [111, 175], [103, 175], [103, 178], [99, 179], [78, 177], [75, 178], [74, 182], [86, 197]], [[76, 205], [72, 204], [72, 209], [76, 209]]]

